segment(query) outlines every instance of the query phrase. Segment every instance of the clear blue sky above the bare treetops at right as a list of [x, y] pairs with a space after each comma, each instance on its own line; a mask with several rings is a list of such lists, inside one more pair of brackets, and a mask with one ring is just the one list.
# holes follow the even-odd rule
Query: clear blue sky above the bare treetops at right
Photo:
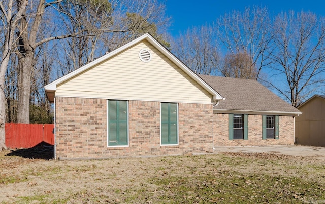
[[[163, 0], [162, 0], [163, 1]], [[233, 10], [243, 11], [248, 6], [266, 6], [270, 14], [281, 11], [312, 11], [325, 16], [325, 0], [165, 0], [166, 14], [172, 17], [169, 32], [177, 36], [192, 26], [213, 23], [218, 17]]]

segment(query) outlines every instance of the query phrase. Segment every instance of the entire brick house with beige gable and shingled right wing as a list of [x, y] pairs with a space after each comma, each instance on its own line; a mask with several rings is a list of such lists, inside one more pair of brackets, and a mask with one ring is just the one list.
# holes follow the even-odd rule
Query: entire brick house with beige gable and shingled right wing
[[[293, 144], [300, 113], [257, 81], [193, 73], [150, 34], [54, 80], [45, 91], [55, 107], [59, 159]], [[268, 93], [256, 108], [251, 102], [261, 97], [249, 95], [255, 91]]]

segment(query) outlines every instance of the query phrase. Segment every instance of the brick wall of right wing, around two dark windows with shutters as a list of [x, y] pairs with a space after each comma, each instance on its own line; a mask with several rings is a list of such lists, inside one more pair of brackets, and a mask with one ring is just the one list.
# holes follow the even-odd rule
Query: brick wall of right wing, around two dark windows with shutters
[[248, 140], [229, 140], [228, 114], [214, 114], [214, 146], [294, 144], [294, 118], [279, 116], [279, 139], [262, 140], [262, 115], [248, 115]]

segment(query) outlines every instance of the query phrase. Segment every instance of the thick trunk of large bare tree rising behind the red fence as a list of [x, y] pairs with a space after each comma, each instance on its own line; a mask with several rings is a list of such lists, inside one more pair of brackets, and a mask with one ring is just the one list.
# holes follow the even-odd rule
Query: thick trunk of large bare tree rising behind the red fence
[[[18, 55], [18, 123], [29, 123], [29, 101], [30, 101], [30, 84], [31, 74], [35, 66], [35, 51], [37, 47], [45, 42], [55, 38], [67, 36], [48, 37], [41, 41], [38, 39], [38, 33], [45, 8], [57, 4], [60, 1], [46, 3], [45, 0], [31, 2], [31, 5], [25, 8], [23, 18], [17, 24], [17, 55]], [[17, 1], [17, 9], [20, 9]]]

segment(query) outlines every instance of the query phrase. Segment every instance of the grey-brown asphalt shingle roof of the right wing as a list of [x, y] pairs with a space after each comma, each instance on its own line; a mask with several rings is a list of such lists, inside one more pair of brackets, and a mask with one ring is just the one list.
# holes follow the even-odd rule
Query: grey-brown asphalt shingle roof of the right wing
[[300, 112], [256, 80], [198, 75], [225, 98], [215, 109]]

